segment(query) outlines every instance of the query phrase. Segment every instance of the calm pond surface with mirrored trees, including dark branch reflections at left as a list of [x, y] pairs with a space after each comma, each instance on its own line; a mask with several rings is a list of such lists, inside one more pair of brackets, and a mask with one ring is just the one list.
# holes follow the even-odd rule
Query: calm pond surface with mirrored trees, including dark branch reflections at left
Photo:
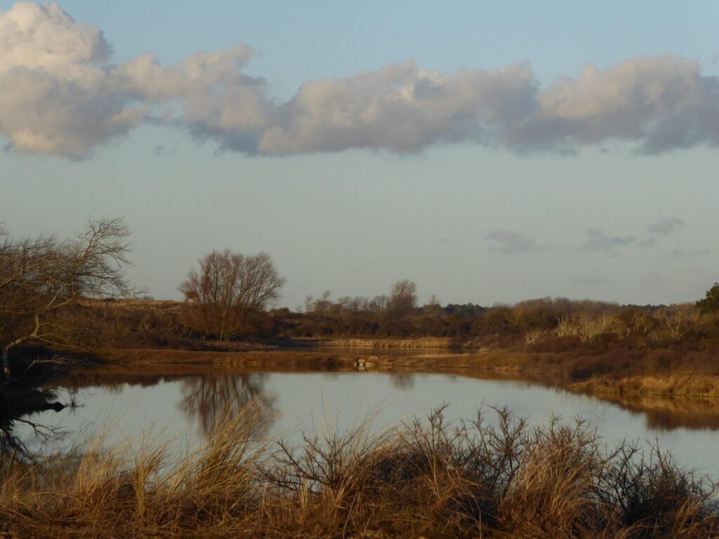
[[[462, 417], [481, 402], [508, 405], [521, 416], [593, 415], [609, 437], [651, 439], [656, 433], [674, 432], [670, 441], [681, 438], [679, 442], [697, 447], [714, 443], [716, 435], [711, 431], [719, 430], [719, 400], [586, 397], [557, 387], [556, 379], [528, 380], [506, 373], [378, 371], [345, 367], [290, 372], [278, 367], [276, 372], [258, 373], [248, 367], [212, 364], [142, 364], [74, 373], [52, 383], [60, 388], [60, 401], [68, 402], [74, 394], [78, 404], [85, 405], [75, 415], [55, 413], [63, 405], [55, 403], [52, 387], [31, 388], [33, 397], [24, 401], [24, 407], [0, 401], [0, 452], [30, 459], [32, 451], [21, 442], [27, 438], [17, 436], [17, 430], [35, 438], [52, 435], [58, 428], [78, 432], [110, 413], [129, 416], [123, 419], [119, 435], [174, 421], [182, 432], [203, 440], [219, 421], [237, 415], [248, 402], [255, 403], [261, 416], [255, 434], [267, 438], [284, 432], [283, 428], [316, 427], [318, 419], [326, 418], [329, 424], [343, 418], [362, 421], [377, 408], [386, 411], [380, 426], [390, 426], [398, 418], [423, 415], [442, 402], [455, 406]], [[627, 427], [630, 423], [632, 430]], [[52, 426], [43, 429], [43, 425]], [[705, 446], [700, 451], [707, 451]]]

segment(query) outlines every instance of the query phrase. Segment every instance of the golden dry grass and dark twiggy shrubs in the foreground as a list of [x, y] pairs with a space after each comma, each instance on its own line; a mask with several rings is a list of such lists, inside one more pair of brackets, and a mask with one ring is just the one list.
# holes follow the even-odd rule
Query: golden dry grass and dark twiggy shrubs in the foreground
[[207, 445], [102, 449], [0, 471], [17, 537], [714, 538], [715, 486], [659, 450], [608, 450], [585, 423], [530, 427], [507, 410], [372, 437], [258, 445], [252, 406]]

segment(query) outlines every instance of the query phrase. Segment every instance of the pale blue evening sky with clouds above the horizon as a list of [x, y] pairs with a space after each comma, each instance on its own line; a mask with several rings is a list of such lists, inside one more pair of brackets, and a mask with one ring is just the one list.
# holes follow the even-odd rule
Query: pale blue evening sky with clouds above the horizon
[[701, 298], [719, 4], [0, 0], [0, 221], [124, 217], [155, 298], [212, 249], [305, 295]]

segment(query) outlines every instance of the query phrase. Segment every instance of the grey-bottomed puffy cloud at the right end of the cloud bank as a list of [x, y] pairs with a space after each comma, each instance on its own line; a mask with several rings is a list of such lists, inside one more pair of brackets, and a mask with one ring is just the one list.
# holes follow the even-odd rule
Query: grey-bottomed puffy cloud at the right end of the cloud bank
[[636, 57], [606, 70], [587, 65], [539, 93], [539, 109], [513, 142], [530, 149], [577, 148], [612, 139], [659, 153], [719, 142], [719, 81], [697, 60]]

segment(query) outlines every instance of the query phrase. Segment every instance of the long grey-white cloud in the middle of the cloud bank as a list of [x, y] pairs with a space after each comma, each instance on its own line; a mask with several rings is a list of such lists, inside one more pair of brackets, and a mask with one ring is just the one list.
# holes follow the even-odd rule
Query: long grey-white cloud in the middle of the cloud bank
[[448, 75], [408, 60], [341, 79], [303, 84], [268, 129], [269, 154], [384, 148], [416, 152], [429, 144], [490, 143], [531, 113], [534, 82], [526, 65]]

